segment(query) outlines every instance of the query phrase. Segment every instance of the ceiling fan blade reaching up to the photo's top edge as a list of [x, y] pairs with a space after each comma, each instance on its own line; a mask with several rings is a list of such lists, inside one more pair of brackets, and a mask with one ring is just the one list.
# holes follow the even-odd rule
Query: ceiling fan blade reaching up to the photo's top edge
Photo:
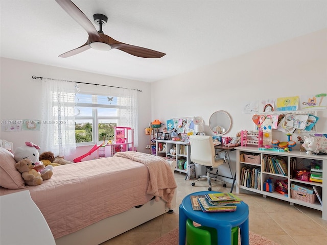
[[103, 41], [98, 34], [97, 29], [85, 14], [70, 0], [56, 0], [60, 7], [67, 12], [81, 27], [88, 33], [90, 39], [94, 41]]

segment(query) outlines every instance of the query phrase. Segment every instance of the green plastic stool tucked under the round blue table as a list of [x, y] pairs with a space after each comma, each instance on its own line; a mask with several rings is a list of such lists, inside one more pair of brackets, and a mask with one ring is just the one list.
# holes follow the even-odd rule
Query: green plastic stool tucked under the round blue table
[[[186, 245], [217, 244], [217, 230], [212, 227], [195, 227], [191, 219], [186, 220]], [[231, 244], [239, 244], [239, 227], [231, 228]]]

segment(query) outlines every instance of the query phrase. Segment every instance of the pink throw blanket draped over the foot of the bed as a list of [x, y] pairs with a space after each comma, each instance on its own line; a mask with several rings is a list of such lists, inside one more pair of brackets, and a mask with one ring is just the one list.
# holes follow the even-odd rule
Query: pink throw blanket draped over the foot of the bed
[[156, 201], [159, 198], [171, 207], [177, 184], [169, 164], [158, 156], [149, 155], [142, 152], [118, 152], [115, 157], [125, 157], [136, 162], [145, 164], [149, 169], [150, 181], [147, 194], [154, 195]]

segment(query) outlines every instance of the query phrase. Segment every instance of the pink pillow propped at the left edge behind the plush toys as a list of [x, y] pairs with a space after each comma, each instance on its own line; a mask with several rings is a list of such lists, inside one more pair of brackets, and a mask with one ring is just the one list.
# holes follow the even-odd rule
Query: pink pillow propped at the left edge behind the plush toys
[[14, 155], [0, 147], [0, 186], [7, 189], [25, 188], [21, 174], [15, 168]]

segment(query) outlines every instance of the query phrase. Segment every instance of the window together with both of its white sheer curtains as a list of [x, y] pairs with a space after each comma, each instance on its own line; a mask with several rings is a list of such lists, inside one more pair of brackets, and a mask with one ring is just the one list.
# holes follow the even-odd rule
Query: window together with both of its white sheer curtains
[[55, 155], [72, 155], [76, 145], [113, 139], [115, 126], [133, 128], [137, 147], [137, 90], [109, 86], [110, 91], [105, 91], [106, 85], [78, 85], [42, 79], [43, 149]]

